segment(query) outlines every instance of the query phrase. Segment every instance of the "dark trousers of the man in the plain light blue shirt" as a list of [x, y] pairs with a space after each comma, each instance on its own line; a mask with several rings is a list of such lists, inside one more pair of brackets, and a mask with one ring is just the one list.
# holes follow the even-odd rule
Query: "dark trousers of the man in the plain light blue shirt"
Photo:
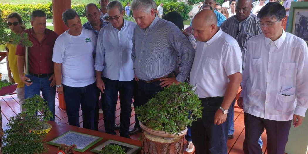
[[129, 124], [132, 113], [132, 98], [134, 80], [119, 81], [103, 78], [105, 84], [104, 90], [104, 124], [108, 134], [115, 135], [115, 108], [118, 102], [118, 92], [120, 93], [120, 136], [128, 137]]

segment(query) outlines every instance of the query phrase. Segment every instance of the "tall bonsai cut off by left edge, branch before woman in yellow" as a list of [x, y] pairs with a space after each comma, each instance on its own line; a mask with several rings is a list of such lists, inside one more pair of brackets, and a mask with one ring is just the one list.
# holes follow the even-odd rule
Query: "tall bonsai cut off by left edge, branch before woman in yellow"
[[[22, 44], [25, 47], [31, 47], [32, 43], [28, 40], [27, 34], [15, 34], [14, 32], [7, 32], [6, 29], [6, 20], [1, 18], [0, 10], [0, 44], [12, 43], [12, 44]], [[1, 111], [1, 106], [0, 106]], [[0, 114], [0, 154], [2, 154], [2, 115]]]

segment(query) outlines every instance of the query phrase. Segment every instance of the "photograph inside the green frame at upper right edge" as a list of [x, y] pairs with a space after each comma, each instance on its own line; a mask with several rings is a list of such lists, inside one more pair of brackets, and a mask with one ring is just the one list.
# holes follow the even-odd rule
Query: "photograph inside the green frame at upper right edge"
[[294, 9], [292, 34], [308, 43], [308, 10]]

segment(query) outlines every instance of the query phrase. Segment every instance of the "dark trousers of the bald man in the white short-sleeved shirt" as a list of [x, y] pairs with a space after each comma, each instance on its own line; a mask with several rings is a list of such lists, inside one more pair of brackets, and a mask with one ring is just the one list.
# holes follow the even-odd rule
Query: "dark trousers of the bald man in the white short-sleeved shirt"
[[[202, 99], [202, 118], [194, 121], [191, 127], [196, 154], [227, 154], [229, 114], [223, 124], [214, 125], [214, 117], [224, 97]], [[230, 111], [231, 108], [229, 107]]]

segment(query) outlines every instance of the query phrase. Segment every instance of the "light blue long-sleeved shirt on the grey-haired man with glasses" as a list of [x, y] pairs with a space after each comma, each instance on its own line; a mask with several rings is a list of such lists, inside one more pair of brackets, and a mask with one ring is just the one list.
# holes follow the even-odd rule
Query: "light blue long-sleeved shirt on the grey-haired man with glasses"
[[124, 20], [121, 30], [109, 23], [99, 31], [97, 39], [95, 70], [111, 80], [134, 79], [132, 62], [132, 36], [136, 23]]

